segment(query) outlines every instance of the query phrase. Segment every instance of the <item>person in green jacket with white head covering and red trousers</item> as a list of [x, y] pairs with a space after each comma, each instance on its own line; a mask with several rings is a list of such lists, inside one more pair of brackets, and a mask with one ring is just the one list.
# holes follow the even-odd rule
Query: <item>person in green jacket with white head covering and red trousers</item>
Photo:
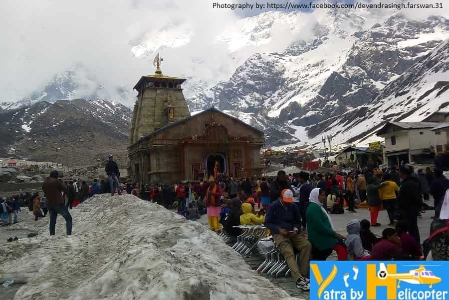
[[338, 260], [347, 260], [348, 250], [344, 244], [345, 237], [335, 232], [332, 220], [322, 205], [326, 201], [324, 189], [313, 189], [309, 200], [306, 209], [307, 236], [313, 246], [313, 259], [326, 260], [335, 250]]

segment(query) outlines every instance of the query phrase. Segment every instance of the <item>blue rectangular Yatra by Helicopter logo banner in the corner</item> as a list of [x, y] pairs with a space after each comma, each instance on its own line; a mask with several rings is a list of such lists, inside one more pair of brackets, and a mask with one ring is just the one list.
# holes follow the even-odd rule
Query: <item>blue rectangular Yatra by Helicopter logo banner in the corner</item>
[[449, 300], [449, 280], [442, 277], [448, 267], [446, 261], [311, 262], [310, 299]]

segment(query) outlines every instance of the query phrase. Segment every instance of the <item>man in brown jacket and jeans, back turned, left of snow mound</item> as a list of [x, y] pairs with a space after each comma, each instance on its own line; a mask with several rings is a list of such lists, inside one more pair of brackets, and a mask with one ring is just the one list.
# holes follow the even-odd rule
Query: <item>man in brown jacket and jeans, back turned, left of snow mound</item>
[[64, 184], [58, 179], [58, 171], [51, 171], [50, 177], [45, 179], [42, 190], [47, 198], [47, 207], [50, 213], [50, 235], [54, 235], [54, 227], [58, 213], [65, 219], [67, 235], [72, 234], [72, 216], [67, 206], [64, 205], [64, 198], [61, 192], [67, 192]]

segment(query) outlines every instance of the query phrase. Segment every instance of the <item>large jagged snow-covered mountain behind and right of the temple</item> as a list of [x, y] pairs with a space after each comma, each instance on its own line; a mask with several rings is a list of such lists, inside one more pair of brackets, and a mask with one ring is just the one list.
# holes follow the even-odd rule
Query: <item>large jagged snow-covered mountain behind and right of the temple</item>
[[376, 18], [382, 17], [329, 13], [313, 27], [312, 41], [282, 53], [253, 54], [228, 81], [189, 98], [189, 105], [193, 110], [215, 105], [242, 119], [275, 124], [259, 126], [270, 145], [284, 143], [279, 131], [289, 143], [314, 141], [322, 133], [317, 128], [325, 128], [316, 124], [375, 101], [386, 85], [449, 37], [449, 21], [441, 16], [411, 20], [395, 13], [373, 23]]

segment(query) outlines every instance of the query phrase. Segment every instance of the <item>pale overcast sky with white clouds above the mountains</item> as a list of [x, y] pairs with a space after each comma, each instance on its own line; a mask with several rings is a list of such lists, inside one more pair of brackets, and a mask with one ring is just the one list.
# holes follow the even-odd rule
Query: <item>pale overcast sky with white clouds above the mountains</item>
[[[188, 45], [180, 48], [182, 53], [179, 49], [164, 50], [167, 73], [179, 75], [180, 70], [192, 68], [192, 60], [203, 62], [201, 66], [206, 67], [199, 67], [198, 72], [207, 80], [217, 76], [209, 66], [220, 74], [232, 72], [233, 67], [225, 57], [229, 55], [227, 49], [223, 44], [214, 43], [214, 39], [227, 25], [256, 12], [214, 9], [212, 3], [209, 0], [2, 0], [0, 101], [41, 91], [56, 74], [76, 63], [87, 67], [90, 79], [104, 85], [106, 90], [117, 86], [130, 89], [140, 76], [154, 72], [152, 57], [133, 57], [131, 48], [167, 28], [172, 32], [192, 32]], [[447, 8], [406, 13], [419, 17], [440, 13], [448, 17]]]

